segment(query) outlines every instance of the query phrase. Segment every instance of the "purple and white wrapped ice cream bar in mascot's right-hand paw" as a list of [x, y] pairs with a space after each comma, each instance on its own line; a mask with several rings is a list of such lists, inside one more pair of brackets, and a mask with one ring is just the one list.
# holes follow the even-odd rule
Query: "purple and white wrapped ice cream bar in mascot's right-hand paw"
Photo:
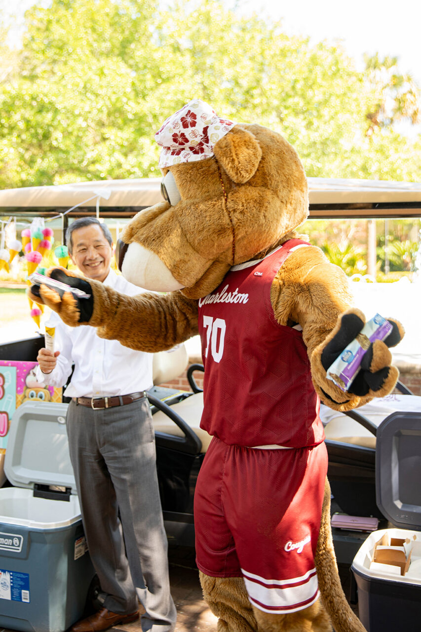
[[336, 360], [327, 369], [326, 377], [336, 386], [347, 391], [360, 370], [363, 355], [375, 340], [384, 340], [393, 327], [380, 314], [367, 320], [358, 336], [348, 344]]

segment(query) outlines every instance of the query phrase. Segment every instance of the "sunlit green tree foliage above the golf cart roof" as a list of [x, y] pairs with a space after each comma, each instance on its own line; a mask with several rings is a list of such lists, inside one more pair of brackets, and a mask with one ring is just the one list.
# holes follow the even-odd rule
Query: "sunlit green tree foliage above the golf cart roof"
[[281, 132], [309, 176], [421, 180], [420, 137], [394, 125], [418, 120], [419, 93], [396, 64], [358, 72], [219, 0], [52, 0], [25, 23], [0, 74], [2, 187], [158, 175], [154, 133], [193, 97]]

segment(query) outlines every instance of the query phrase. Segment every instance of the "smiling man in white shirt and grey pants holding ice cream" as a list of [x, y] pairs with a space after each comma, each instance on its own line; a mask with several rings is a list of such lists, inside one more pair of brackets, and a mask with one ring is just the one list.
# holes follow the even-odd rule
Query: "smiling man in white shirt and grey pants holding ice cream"
[[[73, 264], [88, 279], [139, 294], [111, 270], [113, 240], [94, 217], [67, 230]], [[145, 391], [152, 387], [152, 354], [106, 340], [89, 325], [69, 327], [52, 313], [57, 351], [40, 349], [37, 377], [63, 386], [71, 463], [88, 549], [103, 607], [71, 632], [99, 632], [139, 617], [142, 629], [171, 632], [176, 609], [169, 591], [167, 538], [156, 473], [155, 438]]]

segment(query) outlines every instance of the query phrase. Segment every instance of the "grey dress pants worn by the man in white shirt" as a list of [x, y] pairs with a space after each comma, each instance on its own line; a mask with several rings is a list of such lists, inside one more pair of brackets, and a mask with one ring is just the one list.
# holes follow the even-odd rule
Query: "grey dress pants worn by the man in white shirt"
[[92, 564], [104, 606], [129, 614], [140, 600], [143, 632], [171, 632], [168, 542], [156, 473], [155, 437], [146, 398], [92, 410], [71, 401], [70, 458]]

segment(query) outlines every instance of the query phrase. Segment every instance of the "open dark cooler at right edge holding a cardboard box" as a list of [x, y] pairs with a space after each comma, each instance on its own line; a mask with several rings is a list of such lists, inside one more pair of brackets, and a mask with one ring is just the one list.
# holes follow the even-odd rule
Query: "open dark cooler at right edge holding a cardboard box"
[[[353, 560], [359, 617], [369, 632], [419, 632], [421, 412], [393, 413], [379, 425], [375, 484], [377, 506], [396, 528], [371, 533]], [[374, 556], [387, 544], [394, 548]]]

